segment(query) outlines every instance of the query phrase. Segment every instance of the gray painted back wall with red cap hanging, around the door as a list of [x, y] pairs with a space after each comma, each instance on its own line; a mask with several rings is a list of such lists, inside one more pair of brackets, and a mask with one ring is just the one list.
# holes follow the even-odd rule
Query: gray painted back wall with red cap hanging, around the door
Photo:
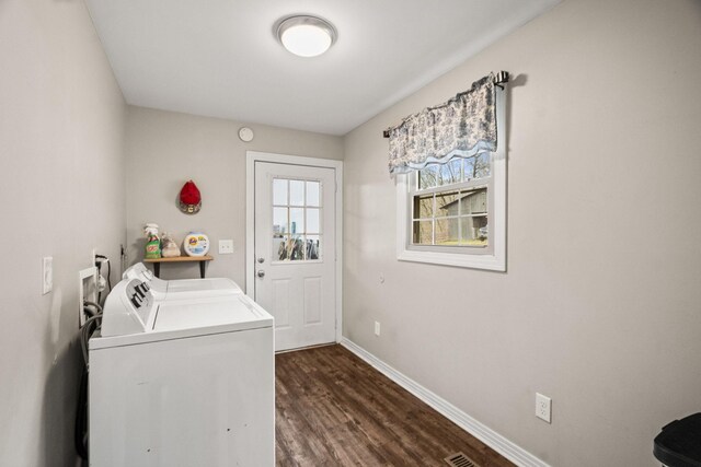
[[[192, 230], [209, 236], [207, 277], [228, 277], [245, 285], [245, 153], [274, 152], [342, 159], [340, 137], [248, 125], [253, 141], [239, 139], [244, 124], [209, 117], [129, 107], [127, 117], [127, 237], [129, 262], [143, 258], [142, 227], [156, 222], [179, 243]], [[203, 197], [202, 210], [182, 213], [176, 203], [192, 178]], [[232, 238], [233, 255], [219, 255], [218, 241]], [[182, 249], [182, 245], [181, 245]], [[199, 277], [198, 264], [164, 265], [165, 279]]]

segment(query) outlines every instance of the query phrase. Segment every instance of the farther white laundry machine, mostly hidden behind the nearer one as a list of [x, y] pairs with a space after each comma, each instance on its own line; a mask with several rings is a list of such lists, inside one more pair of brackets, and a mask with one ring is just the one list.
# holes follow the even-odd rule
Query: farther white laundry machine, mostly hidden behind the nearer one
[[143, 262], [127, 268], [123, 279], [139, 279], [148, 284], [156, 301], [197, 299], [200, 296], [229, 295], [243, 293], [238, 283], [228, 278], [176, 279], [157, 278]]

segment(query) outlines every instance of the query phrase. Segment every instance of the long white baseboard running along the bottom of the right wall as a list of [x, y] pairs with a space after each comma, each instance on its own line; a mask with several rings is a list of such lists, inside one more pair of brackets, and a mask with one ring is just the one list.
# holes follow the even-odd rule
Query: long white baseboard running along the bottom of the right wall
[[491, 430], [484, 424], [480, 423], [452, 404], [448, 402], [440, 396], [426, 389], [421, 384], [403, 375], [392, 366], [388, 365], [360, 346], [356, 345], [347, 338], [342, 338], [340, 342], [343, 347], [365, 360], [377, 371], [384, 376], [392, 380], [394, 383], [409, 390], [414, 396], [418, 397], [422, 401], [427, 404], [438, 413], [446, 417], [448, 420], [516, 464], [522, 467], [549, 467], [548, 464], [533, 456], [522, 447], [512, 443], [506, 437], [502, 436], [497, 432]]

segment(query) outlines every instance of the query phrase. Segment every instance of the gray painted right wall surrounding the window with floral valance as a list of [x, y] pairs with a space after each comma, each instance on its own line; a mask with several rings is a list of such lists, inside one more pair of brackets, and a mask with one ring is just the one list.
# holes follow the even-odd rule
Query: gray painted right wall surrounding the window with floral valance
[[[700, 25], [566, 0], [347, 135], [345, 336], [551, 465], [659, 465], [701, 410]], [[399, 262], [382, 130], [502, 69], [508, 271]]]

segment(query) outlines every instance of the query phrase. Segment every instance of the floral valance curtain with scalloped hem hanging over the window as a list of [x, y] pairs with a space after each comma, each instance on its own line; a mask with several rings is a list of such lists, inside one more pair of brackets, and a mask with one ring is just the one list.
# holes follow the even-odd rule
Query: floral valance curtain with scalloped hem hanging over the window
[[389, 128], [390, 174], [496, 151], [495, 101], [494, 74], [490, 73], [445, 104], [410, 115]]

